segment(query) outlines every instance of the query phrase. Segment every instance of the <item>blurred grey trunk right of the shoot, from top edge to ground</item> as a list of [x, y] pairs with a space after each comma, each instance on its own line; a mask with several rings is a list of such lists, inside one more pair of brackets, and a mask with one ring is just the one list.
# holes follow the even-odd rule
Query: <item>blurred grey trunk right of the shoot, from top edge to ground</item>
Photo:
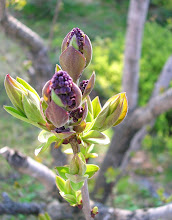
[[129, 113], [127, 119], [115, 128], [115, 133], [111, 145], [107, 151], [105, 159], [100, 168], [99, 176], [96, 180], [92, 197], [98, 201], [105, 202], [112, 191], [114, 182], [106, 183], [104, 173], [109, 167], [117, 168], [120, 166], [125, 152], [130, 146], [130, 141], [136, 130], [130, 128], [128, 123], [132, 111], [137, 106], [138, 78], [139, 78], [139, 59], [141, 55], [141, 42], [144, 23], [148, 11], [149, 0], [131, 0], [128, 13], [128, 28], [126, 35], [126, 46], [124, 54], [124, 74], [123, 91], [126, 92], [129, 102]]

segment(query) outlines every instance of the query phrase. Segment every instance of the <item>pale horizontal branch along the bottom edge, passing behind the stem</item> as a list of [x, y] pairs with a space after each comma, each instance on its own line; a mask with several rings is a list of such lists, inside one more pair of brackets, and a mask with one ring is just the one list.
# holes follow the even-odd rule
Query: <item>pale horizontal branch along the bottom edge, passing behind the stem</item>
[[[136, 211], [128, 211], [123, 209], [114, 209], [106, 207], [100, 203], [94, 203], [98, 206], [99, 214], [96, 215], [95, 220], [171, 220], [172, 204], [161, 206], [158, 208], [138, 209]], [[54, 202], [49, 205], [47, 211], [53, 220], [60, 219], [75, 219], [84, 220], [81, 212], [76, 213], [74, 209], [69, 209], [67, 204], [60, 204]]]

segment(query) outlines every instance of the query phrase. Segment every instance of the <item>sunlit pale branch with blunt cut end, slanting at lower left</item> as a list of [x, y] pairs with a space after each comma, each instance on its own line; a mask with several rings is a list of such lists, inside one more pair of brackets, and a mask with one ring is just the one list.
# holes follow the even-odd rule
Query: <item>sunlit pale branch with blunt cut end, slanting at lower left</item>
[[48, 167], [9, 147], [1, 148], [0, 155], [2, 155], [18, 172], [34, 177], [40, 181], [48, 191], [54, 191], [58, 194], [55, 184], [56, 175]]

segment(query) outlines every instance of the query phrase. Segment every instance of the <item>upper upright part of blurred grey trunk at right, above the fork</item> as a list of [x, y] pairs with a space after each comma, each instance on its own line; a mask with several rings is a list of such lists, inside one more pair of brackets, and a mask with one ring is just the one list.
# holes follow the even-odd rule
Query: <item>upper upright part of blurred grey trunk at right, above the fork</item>
[[129, 6], [122, 87], [130, 110], [137, 106], [139, 60], [148, 6], [149, 0], [131, 0]]

